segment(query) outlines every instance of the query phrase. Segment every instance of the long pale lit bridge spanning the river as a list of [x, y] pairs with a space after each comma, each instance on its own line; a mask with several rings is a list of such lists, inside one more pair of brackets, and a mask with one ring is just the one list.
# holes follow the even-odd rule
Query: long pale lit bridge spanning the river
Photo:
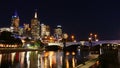
[[[96, 45], [102, 45], [102, 44], [116, 44], [116, 45], [120, 45], [120, 40], [101, 40], [101, 41], [92, 41], [91, 44], [92, 46], [96, 46]], [[63, 47], [63, 43], [49, 43], [50, 45], [58, 45]], [[80, 42], [66, 42], [66, 47], [70, 46], [70, 45], [85, 45], [85, 46], [90, 46], [90, 42], [89, 41], [80, 41]]]

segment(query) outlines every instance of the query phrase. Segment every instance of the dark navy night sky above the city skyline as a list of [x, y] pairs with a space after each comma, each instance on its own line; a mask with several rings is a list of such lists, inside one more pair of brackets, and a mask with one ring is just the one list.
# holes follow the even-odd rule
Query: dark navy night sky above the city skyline
[[51, 31], [61, 25], [63, 32], [87, 40], [97, 33], [100, 40], [120, 39], [119, 0], [0, 0], [0, 27], [9, 27], [17, 10], [20, 25], [29, 23], [37, 9], [41, 23]]

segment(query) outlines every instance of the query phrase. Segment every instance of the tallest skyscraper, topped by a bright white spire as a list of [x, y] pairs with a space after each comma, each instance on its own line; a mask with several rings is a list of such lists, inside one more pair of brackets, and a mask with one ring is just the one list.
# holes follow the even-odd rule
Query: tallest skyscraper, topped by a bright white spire
[[34, 40], [40, 38], [40, 21], [38, 20], [37, 12], [35, 12], [35, 16], [31, 20], [31, 35]]

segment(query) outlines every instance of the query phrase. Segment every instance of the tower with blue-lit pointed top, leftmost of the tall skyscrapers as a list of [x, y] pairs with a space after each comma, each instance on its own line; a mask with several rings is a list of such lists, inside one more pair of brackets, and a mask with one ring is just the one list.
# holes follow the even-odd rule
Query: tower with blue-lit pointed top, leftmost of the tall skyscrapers
[[19, 19], [19, 16], [16, 11], [15, 11], [14, 15], [12, 16], [11, 22], [12, 22], [11, 27], [13, 28], [13, 32], [18, 34], [20, 19]]

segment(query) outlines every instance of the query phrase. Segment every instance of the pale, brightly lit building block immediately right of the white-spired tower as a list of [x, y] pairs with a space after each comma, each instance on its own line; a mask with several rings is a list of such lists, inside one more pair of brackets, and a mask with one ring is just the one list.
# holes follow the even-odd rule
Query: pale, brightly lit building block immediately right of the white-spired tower
[[45, 24], [41, 24], [41, 38], [45, 36], [50, 36], [50, 27]]

